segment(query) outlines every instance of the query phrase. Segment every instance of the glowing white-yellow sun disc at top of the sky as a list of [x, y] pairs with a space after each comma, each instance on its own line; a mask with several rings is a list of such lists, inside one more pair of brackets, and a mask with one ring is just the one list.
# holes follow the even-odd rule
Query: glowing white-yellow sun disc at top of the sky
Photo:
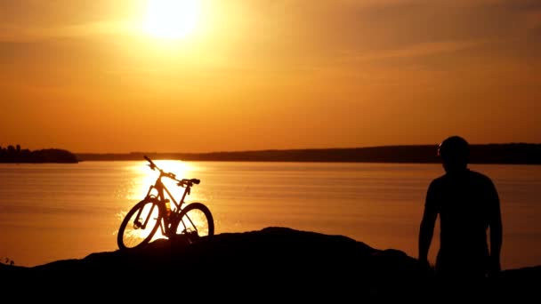
[[197, 28], [198, 0], [149, 0], [143, 29], [149, 36], [182, 39]]

